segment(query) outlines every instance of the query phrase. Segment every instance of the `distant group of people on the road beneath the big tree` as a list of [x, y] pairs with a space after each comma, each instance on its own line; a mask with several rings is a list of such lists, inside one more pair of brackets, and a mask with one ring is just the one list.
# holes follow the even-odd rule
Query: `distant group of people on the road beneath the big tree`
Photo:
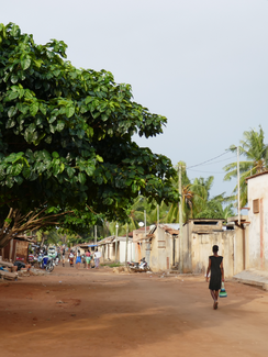
[[[82, 255], [80, 254], [79, 249], [76, 253], [70, 250], [70, 253], [68, 255], [70, 267], [74, 267], [74, 263], [76, 263], [77, 269], [80, 268], [81, 264], [83, 264], [83, 267], [87, 269], [90, 269], [92, 267], [94, 267], [96, 269], [99, 269], [100, 258], [101, 258], [101, 253], [98, 252], [98, 248], [96, 252], [90, 252], [88, 249]], [[62, 260], [63, 260], [63, 267], [64, 267], [65, 266], [65, 249], [63, 249]]]

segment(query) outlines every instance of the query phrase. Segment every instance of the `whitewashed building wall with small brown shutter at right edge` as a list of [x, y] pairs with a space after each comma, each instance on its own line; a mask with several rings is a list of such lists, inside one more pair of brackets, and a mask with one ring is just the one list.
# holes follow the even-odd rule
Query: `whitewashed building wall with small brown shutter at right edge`
[[[248, 267], [268, 269], [268, 172], [253, 176], [248, 185]], [[259, 212], [254, 213], [253, 201], [259, 200]]]

